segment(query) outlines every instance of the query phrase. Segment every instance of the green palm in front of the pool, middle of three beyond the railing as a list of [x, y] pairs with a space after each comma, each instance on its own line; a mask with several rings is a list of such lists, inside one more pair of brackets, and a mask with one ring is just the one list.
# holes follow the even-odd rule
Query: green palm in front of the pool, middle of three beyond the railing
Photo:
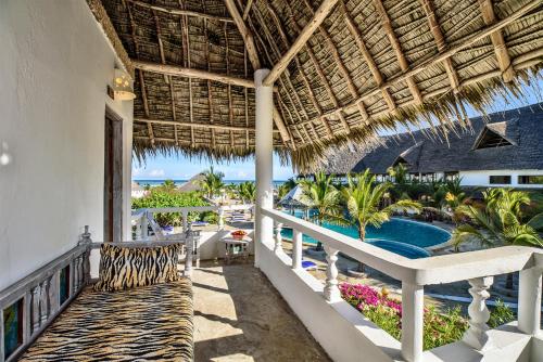
[[[341, 191], [350, 216], [344, 221], [357, 228], [361, 241], [364, 242], [366, 238], [368, 224], [379, 228], [383, 222], [390, 220], [394, 211], [419, 210], [421, 208], [419, 203], [411, 199], [400, 199], [381, 208], [381, 201], [390, 188], [392, 184], [389, 182], [376, 183], [376, 177], [371, 176], [369, 170], [357, 177], [348, 176], [348, 185]], [[358, 264], [358, 270], [364, 271], [362, 263]]]

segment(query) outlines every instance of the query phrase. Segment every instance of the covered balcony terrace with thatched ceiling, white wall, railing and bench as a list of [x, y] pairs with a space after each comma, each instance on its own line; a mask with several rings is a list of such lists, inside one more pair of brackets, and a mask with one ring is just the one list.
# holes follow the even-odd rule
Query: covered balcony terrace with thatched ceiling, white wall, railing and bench
[[[146, 323], [156, 327], [148, 320], [130, 331], [139, 345], [106, 348], [109, 358], [137, 359], [130, 353], [148, 347], [144, 341], [160, 332], [163, 340], [190, 340], [184, 357], [175, 354], [175, 341], [150, 352], [171, 350], [172, 360], [543, 359], [541, 249], [504, 246], [407, 259], [274, 209], [272, 180], [274, 152], [294, 169], [312, 171], [330, 146], [375, 144], [378, 131], [396, 124], [434, 117], [445, 131], [456, 121], [469, 127], [465, 104], [482, 109], [500, 92], [520, 92], [522, 79], [539, 79], [541, 1], [20, 2], [0, 5], [0, 21], [7, 24], [0, 35], [15, 39], [0, 37], [0, 42], [20, 61], [7, 57], [8, 73], [0, 74], [5, 79], [0, 90], [13, 87], [20, 96], [4, 107], [17, 127], [9, 122], [0, 140], [0, 171], [9, 181], [0, 195], [11, 210], [1, 217], [8, 227], [1, 233], [7, 253], [0, 256], [0, 309], [16, 309], [20, 329], [8, 336], [8, 314], [0, 313], [0, 361], [54, 360], [77, 350], [80, 338], [51, 352], [48, 331], [73, 318], [74, 308], [84, 306], [80, 300], [115, 298], [115, 293], [96, 295], [87, 287], [98, 275], [98, 248], [173, 243], [148, 235], [148, 216], [159, 211], [184, 216], [177, 242], [186, 248], [184, 273], [192, 280], [188, 294], [193, 293], [194, 316], [182, 318], [195, 331], [146, 333]], [[135, 80], [134, 90], [113, 79]], [[80, 80], [74, 83], [85, 98], [77, 96], [72, 80]], [[136, 99], [123, 100], [131, 91]], [[59, 104], [59, 96], [70, 106]], [[43, 124], [50, 128], [39, 128]], [[18, 127], [29, 128], [22, 135]], [[42, 130], [40, 137], [35, 129]], [[38, 148], [17, 146], [27, 137]], [[137, 241], [131, 241], [132, 152], [142, 159], [156, 153], [213, 159], [254, 154], [254, 259], [241, 266], [192, 266], [194, 256], [223, 257], [218, 243], [227, 232], [225, 208], [218, 206], [137, 212]], [[42, 169], [51, 159], [54, 169]], [[40, 197], [29, 201], [36, 186], [28, 180], [37, 170], [48, 188], [38, 186]], [[186, 220], [190, 211], [203, 210], [218, 214], [218, 230], [198, 236]], [[35, 220], [33, 230], [22, 221], [28, 217]], [[277, 236], [286, 227], [293, 231], [288, 253]], [[302, 235], [325, 247], [324, 282], [302, 268]], [[193, 255], [195, 242], [200, 254]], [[401, 340], [341, 298], [339, 254], [401, 282]], [[518, 321], [491, 329], [485, 300], [493, 277], [514, 272], [519, 273]], [[425, 351], [425, 287], [458, 281], [471, 286], [469, 329], [462, 340]], [[153, 290], [174, 289], [159, 285]], [[173, 313], [189, 311], [185, 308], [192, 300], [185, 292], [179, 293], [182, 308], [169, 306]], [[99, 312], [84, 311], [78, 319], [92, 323]], [[115, 320], [117, 312], [126, 320], [142, 314], [123, 307], [105, 318]]]

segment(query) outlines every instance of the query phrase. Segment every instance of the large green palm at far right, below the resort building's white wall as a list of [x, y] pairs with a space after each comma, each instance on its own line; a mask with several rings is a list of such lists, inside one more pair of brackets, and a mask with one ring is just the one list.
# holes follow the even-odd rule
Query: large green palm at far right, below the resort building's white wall
[[[452, 242], [456, 250], [466, 242], [484, 247], [498, 245], [525, 245], [543, 247], [538, 233], [543, 212], [522, 222], [522, 206], [530, 204], [528, 193], [512, 189], [489, 189], [483, 192], [483, 205], [462, 205], [456, 211], [466, 216], [453, 231]], [[513, 274], [507, 275], [506, 287], [513, 288]]]

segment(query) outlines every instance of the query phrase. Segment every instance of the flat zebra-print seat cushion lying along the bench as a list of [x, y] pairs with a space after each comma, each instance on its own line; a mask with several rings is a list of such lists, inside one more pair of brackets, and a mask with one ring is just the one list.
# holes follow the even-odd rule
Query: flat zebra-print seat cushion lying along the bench
[[191, 281], [118, 292], [87, 287], [21, 361], [192, 361]]

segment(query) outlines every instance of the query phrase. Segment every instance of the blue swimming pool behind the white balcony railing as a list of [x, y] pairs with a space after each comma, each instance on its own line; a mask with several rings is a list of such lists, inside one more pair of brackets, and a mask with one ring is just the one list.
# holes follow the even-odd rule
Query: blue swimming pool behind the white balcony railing
[[[301, 218], [302, 212], [296, 211], [294, 216]], [[358, 238], [356, 228], [339, 227], [328, 222], [325, 222], [323, 227], [337, 231], [343, 235]], [[283, 229], [281, 235], [287, 238], [292, 238], [292, 230]], [[381, 228], [366, 228], [367, 243], [371, 243], [375, 246], [411, 259], [430, 256], [430, 254], [425, 250], [426, 247], [445, 243], [450, 238], [451, 234], [441, 228], [401, 218], [392, 218], [390, 221], [383, 223]], [[303, 235], [303, 242], [310, 244], [317, 243], [307, 235]]]

